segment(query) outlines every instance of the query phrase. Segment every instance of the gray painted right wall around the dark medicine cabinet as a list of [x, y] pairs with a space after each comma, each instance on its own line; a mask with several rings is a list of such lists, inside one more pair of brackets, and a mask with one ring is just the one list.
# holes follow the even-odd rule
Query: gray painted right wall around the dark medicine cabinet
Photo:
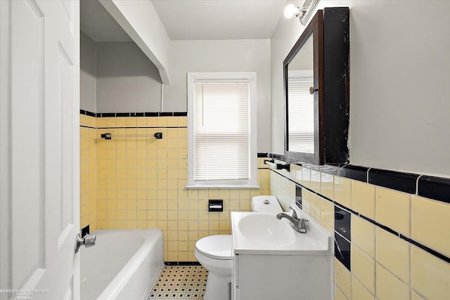
[[[327, 6], [350, 8], [352, 164], [450, 177], [450, 1]], [[303, 30], [282, 15], [271, 39], [272, 152], [284, 151], [282, 62]]]

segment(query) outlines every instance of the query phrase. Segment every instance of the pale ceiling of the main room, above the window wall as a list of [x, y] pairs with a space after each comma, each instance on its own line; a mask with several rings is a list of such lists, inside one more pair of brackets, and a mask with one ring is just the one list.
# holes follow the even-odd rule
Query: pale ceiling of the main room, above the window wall
[[170, 39], [270, 39], [285, 0], [152, 0]]

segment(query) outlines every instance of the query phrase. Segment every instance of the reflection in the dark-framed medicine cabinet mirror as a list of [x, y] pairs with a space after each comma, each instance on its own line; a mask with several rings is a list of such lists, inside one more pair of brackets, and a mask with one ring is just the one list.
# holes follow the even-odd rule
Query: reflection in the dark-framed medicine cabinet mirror
[[288, 150], [314, 154], [313, 34], [288, 65]]

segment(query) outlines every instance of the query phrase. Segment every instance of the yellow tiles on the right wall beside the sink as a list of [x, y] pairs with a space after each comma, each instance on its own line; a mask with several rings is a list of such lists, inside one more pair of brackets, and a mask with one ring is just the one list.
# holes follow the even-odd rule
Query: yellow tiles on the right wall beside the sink
[[[295, 176], [279, 170], [269, 175], [271, 193], [283, 209], [295, 203], [295, 181], [310, 189], [302, 189], [305, 213], [330, 232], [333, 203], [321, 195], [450, 255], [450, 204], [291, 164], [293, 168]], [[351, 235], [352, 272], [334, 258], [335, 300], [450, 299], [450, 263], [355, 214]]]

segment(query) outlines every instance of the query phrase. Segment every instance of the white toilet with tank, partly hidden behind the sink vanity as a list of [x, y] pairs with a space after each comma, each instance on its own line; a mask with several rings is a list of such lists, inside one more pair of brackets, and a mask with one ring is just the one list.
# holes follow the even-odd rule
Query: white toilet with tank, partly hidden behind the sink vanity
[[[282, 212], [275, 196], [252, 198], [252, 211]], [[208, 270], [205, 300], [231, 299], [231, 272], [233, 271], [233, 236], [210, 235], [195, 243], [195, 258]]]

